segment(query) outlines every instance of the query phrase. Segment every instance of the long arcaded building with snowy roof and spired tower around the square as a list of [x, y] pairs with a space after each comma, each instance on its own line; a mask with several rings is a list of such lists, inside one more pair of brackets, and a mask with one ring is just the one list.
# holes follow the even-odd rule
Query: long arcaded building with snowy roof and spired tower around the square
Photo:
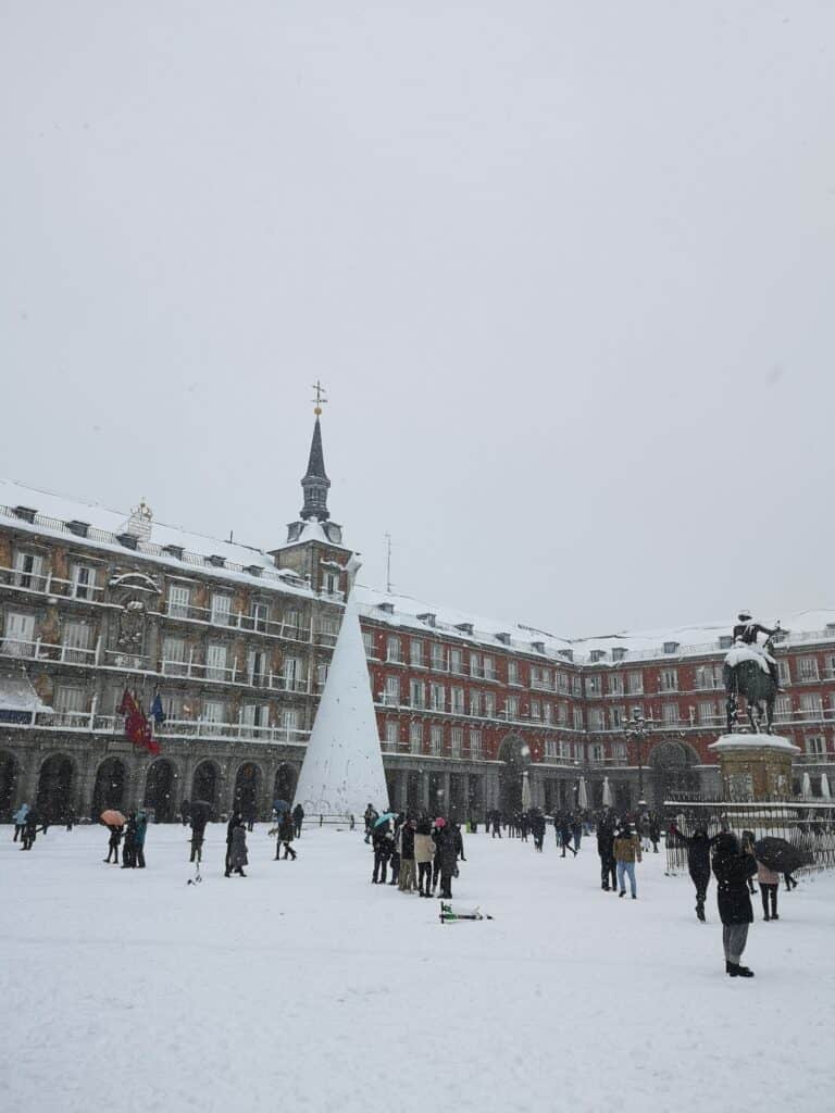
[[[316, 417], [304, 504], [269, 550], [0, 481], [0, 814], [184, 799], [266, 816], [293, 795], [351, 549]], [[390, 799], [483, 815], [711, 790], [730, 624], [569, 638], [357, 585]], [[835, 760], [835, 611], [783, 615], [780, 735], [819, 790]], [[161, 752], [131, 742], [125, 691]], [[642, 723], [640, 731], [635, 720]]]

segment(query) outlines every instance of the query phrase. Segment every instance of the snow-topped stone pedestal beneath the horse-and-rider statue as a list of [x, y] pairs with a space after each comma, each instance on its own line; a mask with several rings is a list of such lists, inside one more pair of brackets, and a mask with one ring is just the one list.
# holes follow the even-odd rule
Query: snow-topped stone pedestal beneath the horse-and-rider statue
[[723, 735], [708, 746], [719, 757], [726, 800], [787, 800], [792, 759], [800, 748], [779, 735]]

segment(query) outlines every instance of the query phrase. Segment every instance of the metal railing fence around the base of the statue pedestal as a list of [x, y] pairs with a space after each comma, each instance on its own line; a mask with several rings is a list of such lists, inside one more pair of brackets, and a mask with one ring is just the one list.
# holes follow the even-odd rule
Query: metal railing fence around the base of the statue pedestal
[[[835, 868], [835, 800], [665, 800], [669, 819], [682, 835], [698, 829], [708, 835], [726, 829], [740, 835], [754, 831], [757, 839], [784, 838], [811, 855], [812, 864], [796, 873], [813, 874]], [[667, 873], [687, 871], [687, 846], [667, 838]]]

